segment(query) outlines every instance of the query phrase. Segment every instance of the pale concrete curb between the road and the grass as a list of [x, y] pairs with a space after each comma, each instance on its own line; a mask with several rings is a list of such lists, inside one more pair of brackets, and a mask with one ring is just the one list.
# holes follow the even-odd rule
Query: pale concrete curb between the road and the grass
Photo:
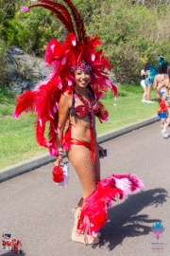
[[[150, 119], [144, 119], [142, 121], [132, 123], [130, 125], [127, 125], [123, 128], [110, 131], [109, 133], [102, 134], [97, 137], [98, 143], [106, 142], [114, 137], [119, 137], [122, 135], [125, 135], [127, 133], [130, 133], [134, 130], [140, 129], [146, 125], [149, 125], [153, 122], [156, 122], [160, 120], [158, 116], [152, 117]], [[66, 155], [64, 155], [66, 156]], [[56, 159], [56, 157], [51, 156], [49, 154], [44, 154], [40, 156], [33, 157], [29, 160], [23, 161], [21, 163], [9, 166], [5, 169], [0, 170], [0, 182], [3, 182], [5, 180], [8, 180], [9, 178], [12, 178], [14, 176], [25, 174], [27, 172], [33, 171], [42, 165], [46, 165], [50, 162], [53, 162]]]

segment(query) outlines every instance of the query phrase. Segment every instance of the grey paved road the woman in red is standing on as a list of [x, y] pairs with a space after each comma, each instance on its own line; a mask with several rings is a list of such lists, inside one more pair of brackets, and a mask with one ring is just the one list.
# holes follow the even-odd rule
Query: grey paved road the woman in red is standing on
[[[102, 143], [109, 156], [101, 160], [102, 177], [110, 173], [137, 174], [144, 192], [131, 194], [114, 203], [109, 221], [95, 247], [71, 241], [75, 206], [81, 188], [72, 166], [69, 186], [58, 187], [52, 180], [52, 163], [0, 184], [0, 231], [21, 239], [26, 256], [150, 256], [157, 239], [155, 223], [164, 226], [163, 251], [170, 256], [170, 138], [161, 137], [160, 123]], [[158, 247], [158, 246], [157, 246]], [[3, 252], [0, 255], [13, 255]]]

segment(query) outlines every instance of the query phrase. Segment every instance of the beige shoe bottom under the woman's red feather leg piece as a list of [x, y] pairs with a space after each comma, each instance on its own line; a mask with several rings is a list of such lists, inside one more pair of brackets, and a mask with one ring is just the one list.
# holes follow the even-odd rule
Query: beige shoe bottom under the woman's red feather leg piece
[[98, 243], [100, 243], [100, 239], [98, 237], [78, 234], [75, 229], [73, 229], [72, 231], [72, 241], [86, 245], [97, 245]]

